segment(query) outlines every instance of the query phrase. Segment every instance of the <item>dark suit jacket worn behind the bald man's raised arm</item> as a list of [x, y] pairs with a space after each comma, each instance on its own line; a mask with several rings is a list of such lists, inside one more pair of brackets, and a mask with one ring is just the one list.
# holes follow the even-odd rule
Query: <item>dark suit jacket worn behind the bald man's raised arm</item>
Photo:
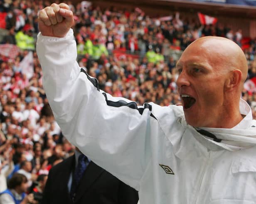
[[[71, 156], [49, 172], [42, 204], [72, 204], [67, 183], [75, 165]], [[90, 162], [76, 192], [75, 204], [137, 204], [138, 192]]]

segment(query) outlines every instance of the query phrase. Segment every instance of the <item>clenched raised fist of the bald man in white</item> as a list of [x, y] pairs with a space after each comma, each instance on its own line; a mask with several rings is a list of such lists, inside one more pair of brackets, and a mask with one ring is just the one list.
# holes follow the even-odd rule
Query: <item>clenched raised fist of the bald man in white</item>
[[44, 36], [64, 37], [74, 24], [73, 13], [69, 6], [53, 3], [39, 12], [39, 31]]

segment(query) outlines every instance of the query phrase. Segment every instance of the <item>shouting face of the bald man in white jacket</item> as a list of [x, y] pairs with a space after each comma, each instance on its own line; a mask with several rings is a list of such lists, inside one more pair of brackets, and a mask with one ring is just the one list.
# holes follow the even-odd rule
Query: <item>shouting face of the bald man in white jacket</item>
[[193, 43], [177, 62], [177, 79], [186, 121], [194, 127], [219, 127], [226, 74], [214, 50]]

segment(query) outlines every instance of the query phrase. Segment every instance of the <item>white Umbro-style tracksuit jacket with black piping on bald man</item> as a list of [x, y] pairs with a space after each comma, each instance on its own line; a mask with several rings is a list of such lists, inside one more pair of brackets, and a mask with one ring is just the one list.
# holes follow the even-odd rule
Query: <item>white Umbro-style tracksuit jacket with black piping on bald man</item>
[[245, 101], [236, 127], [203, 128], [215, 142], [187, 125], [181, 106], [137, 107], [97, 89], [76, 62], [72, 30], [64, 38], [39, 34], [37, 54], [65, 137], [137, 189], [140, 204], [256, 204], [256, 121]]

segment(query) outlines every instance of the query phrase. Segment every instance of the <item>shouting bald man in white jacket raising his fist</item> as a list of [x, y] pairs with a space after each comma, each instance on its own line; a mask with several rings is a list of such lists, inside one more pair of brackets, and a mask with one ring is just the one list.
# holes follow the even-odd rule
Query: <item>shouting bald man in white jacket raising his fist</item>
[[37, 53], [54, 116], [69, 141], [139, 191], [140, 204], [254, 204], [256, 121], [240, 98], [242, 50], [194, 41], [177, 62], [182, 106], [137, 106], [98, 88], [76, 62], [73, 14], [39, 12]]

